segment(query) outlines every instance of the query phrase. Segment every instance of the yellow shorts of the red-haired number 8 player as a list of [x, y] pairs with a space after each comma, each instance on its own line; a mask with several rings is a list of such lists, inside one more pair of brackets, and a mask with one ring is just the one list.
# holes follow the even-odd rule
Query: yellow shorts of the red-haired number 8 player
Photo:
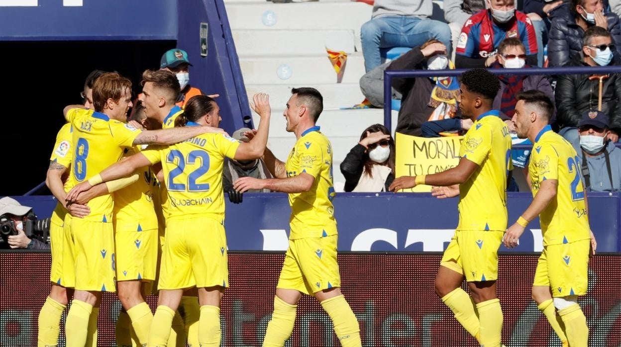
[[112, 223], [72, 218], [71, 253], [75, 259], [75, 289], [116, 291], [116, 259]]

